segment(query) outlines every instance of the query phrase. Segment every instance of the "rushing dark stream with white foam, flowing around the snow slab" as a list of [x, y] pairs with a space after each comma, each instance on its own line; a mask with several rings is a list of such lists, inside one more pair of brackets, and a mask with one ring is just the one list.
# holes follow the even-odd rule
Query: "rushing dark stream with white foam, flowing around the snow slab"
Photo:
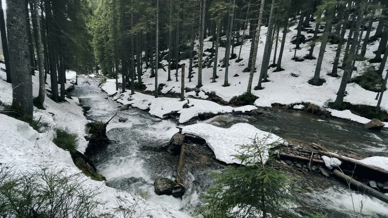
[[[78, 97], [83, 106], [91, 108], [87, 118], [107, 121], [116, 113], [120, 104], [107, 98], [98, 83], [99, 79], [83, 79], [70, 94]], [[119, 118], [128, 121], [119, 122]], [[361, 125], [320, 118], [301, 111], [274, 110], [257, 116], [221, 115], [206, 121], [193, 119], [184, 125], [196, 122], [211, 123], [223, 128], [235, 123], [249, 123], [284, 138], [320, 142], [333, 150], [355, 151], [367, 156], [388, 156], [388, 131], [367, 131]], [[201, 203], [200, 195], [212, 185], [209, 173], [222, 171], [223, 165], [213, 159], [190, 155], [185, 160], [184, 184], [187, 190], [183, 198], [157, 196], [154, 193], [154, 180], [162, 177], [174, 180], [178, 156], [155, 151], [154, 147], [168, 142], [178, 132], [175, 127], [179, 125], [177, 119], [154, 118], [147, 111], [137, 108], [119, 111], [107, 126], [107, 136], [114, 142], [91, 159], [111, 187], [137, 193], [149, 198], [149, 201], [192, 214], [193, 206]], [[365, 202], [363, 217], [388, 217], [388, 205], [377, 199], [355, 192], [350, 195], [345, 185], [333, 179], [312, 175], [307, 177], [298, 180], [310, 189], [306, 194], [301, 194], [302, 202], [293, 206], [295, 211], [302, 214], [320, 211], [329, 217], [348, 218], [353, 211], [353, 197], [356, 211], [360, 209], [360, 201]]]

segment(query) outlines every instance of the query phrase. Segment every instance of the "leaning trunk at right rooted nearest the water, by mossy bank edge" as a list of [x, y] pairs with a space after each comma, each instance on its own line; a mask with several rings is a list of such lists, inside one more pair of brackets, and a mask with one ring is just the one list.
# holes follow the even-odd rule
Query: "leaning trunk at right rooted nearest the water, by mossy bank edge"
[[[364, 7], [365, 7], [364, 2], [365, 2], [365, 0], [361, 0], [361, 2], [360, 2], [359, 14], [364, 14]], [[352, 71], [351, 71], [352, 70], [352, 62], [353, 62], [353, 58], [354, 58], [356, 47], [357, 47], [356, 44], [357, 44], [357, 40], [358, 40], [361, 21], [362, 21], [362, 16], [357, 17], [357, 22], [356, 22], [356, 26], [355, 26], [355, 33], [354, 33], [354, 37], [352, 40], [352, 46], [351, 46], [350, 51], [349, 51], [350, 55], [349, 55], [348, 59], [346, 60], [346, 67], [345, 67], [345, 70], [343, 72], [340, 89], [338, 90], [336, 100], [334, 101], [334, 105], [337, 107], [340, 106], [343, 102], [343, 98], [345, 97], [346, 85], [347, 85], [348, 81], [350, 80], [350, 75], [352, 74]]]

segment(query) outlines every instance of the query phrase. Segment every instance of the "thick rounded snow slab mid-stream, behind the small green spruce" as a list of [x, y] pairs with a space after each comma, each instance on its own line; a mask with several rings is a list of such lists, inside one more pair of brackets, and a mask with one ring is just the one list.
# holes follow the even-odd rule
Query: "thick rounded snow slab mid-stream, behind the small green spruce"
[[247, 145], [253, 142], [253, 138], [261, 140], [267, 138], [262, 143], [265, 147], [263, 154], [263, 162], [268, 159], [268, 149], [276, 144], [287, 144], [285, 140], [277, 135], [257, 129], [248, 123], [237, 123], [230, 128], [220, 128], [206, 123], [197, 123], [194, 125], [185, 126], [182, 129], [182, 134], [192, 134], [203, 138], [213, 150], [216, 158], [227, 164], [237, 163], [241, 161], [232, 157], [244, 152], [240, 145]]

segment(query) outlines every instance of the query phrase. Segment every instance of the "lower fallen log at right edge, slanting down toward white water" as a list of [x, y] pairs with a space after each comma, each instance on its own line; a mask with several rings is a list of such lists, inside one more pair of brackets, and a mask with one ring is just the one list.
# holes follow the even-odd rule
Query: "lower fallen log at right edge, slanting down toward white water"
[[361, 193], [364, 192], [368, 196], [376, 197], [377, 199], [388, 203], [388, 196], [386, 196], [385, 194], [362, 184], [361, 182], [355, 180], [354, 178], [352, 178], [350, 176], [347, 176], [347, 175], [341, 173], [338, 170], [334, 170], [333, 174], [336, 175], [337, 177], [341, 178], [342, 180], [345, 180], [346, 183], [348, 183], [348, 184], [350, 183], [350, 185], [353, 187], [354, 190], [359, 191]]

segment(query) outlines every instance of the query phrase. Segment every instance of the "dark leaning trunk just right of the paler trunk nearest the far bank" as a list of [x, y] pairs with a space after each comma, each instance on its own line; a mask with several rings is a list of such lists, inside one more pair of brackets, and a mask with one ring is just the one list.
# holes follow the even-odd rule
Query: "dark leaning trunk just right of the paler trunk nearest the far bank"
[[259, 81], [257, 83], [257, 87], [255, 87], [255, 90], [262, 89], [262, 80], [266, 80], [267, 77], [267, 71], [268, 71], [268, 64], [269, 59], [271, 56], [271, 50], [272, 50], [272, 31], [274, 28], [274, 8], [275, 8], [276, 0], [272, 0], [271, 3], [271, 10], [269, 14], [269, 21], [268, 21], [268, 31], [267, 31], [267, 38], [265, 39], [265, 48], [264, 48], [264, 54], [263, 54], [263, 60], [262, 60], [262, 68], [260, 70], [260, 76]]

